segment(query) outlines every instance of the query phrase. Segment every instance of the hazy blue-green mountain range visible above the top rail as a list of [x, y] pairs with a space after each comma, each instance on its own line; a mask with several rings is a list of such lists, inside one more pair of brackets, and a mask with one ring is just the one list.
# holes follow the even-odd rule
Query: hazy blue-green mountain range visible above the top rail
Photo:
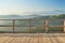
[[57, 15], [0, 15], [0, 19], [65, 19], [65, 14]]

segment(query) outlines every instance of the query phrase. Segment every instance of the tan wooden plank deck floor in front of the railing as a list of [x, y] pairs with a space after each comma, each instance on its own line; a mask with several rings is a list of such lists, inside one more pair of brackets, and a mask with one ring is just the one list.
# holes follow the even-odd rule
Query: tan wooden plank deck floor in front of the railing
[[65, 43], [65, 33], [9, 33], [0, 35], [0, 43]]

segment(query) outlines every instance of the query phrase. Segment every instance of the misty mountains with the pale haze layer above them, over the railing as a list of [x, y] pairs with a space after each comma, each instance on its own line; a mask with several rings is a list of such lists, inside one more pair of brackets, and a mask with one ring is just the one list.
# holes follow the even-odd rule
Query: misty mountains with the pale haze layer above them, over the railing
[[22, 15], [0, 15], [0, 19], [65, 19], [65, 11], [26, 12]]

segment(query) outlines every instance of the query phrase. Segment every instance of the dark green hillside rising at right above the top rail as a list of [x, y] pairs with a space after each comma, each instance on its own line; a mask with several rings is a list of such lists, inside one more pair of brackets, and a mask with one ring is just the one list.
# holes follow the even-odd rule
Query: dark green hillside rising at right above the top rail
[[65, 14], [38, 16], [38, 17], [34, 17], [32, 19], [65, 19]]

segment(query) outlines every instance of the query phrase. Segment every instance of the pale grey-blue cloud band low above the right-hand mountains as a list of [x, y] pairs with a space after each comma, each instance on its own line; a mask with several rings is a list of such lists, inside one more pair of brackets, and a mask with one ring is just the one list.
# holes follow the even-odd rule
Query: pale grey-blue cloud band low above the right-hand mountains
[[54, 11], [41, 11], [41, 12], [25, 12], [23, 14], [26, 14], [26, 15], [57, 15], [57, 14], [65, 14], [65, 11], [54, 10]]

